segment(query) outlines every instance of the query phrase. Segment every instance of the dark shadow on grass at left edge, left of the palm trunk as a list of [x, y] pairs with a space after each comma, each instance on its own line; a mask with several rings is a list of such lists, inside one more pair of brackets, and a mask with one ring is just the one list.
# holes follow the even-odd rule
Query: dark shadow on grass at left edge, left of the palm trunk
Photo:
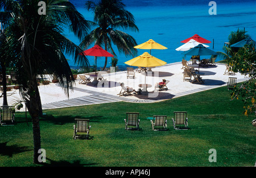
[[0, 155], [13, 157], [14, 154], [19, 154], [20, 152], [31, 151], [28, 146], [17, 146], [11, 145], [7, 146], [8, 142], [0, 143]]

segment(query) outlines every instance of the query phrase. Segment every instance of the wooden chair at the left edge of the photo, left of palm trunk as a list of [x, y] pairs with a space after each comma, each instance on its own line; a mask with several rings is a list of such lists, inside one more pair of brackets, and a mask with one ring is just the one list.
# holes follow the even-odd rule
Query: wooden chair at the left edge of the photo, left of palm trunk
[[0, 124], [1, 125], [13, 125], [15, 114], [13, 113], [13, 106], [3, 105], [1, 106]]

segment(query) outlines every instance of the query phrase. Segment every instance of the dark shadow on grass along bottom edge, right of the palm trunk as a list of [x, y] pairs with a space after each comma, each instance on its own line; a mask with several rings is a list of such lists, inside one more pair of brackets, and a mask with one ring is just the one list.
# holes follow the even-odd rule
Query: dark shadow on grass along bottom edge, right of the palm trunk
[[66, 160], [60, 160], [60, 161], [55, 161], [49, 158], [46, 158], [49, 160], [51, 163], [43, 163], [43, 166], [46, 167], [83, 167], [83, 166], [97, 166], [97, 163], [88, 163], [88, 164], [81, 164], [81, 160], [74, 160], [73, 163], [68, 162]]

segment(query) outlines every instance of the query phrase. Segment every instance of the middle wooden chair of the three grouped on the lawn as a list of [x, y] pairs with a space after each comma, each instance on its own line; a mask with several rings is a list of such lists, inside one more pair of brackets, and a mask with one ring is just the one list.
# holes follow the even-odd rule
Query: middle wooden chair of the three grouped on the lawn
[[155, 115], [153, 116], [153, 120], [150, 121], [152, 125], [152, 130], [168, 130], [166, 115]]

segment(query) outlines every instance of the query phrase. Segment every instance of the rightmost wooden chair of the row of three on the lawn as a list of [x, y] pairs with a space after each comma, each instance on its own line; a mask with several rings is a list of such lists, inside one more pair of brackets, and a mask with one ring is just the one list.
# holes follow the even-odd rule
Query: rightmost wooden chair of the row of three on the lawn
[[188, 118], [186, 111], [175, 111], [174, 118], [172, 118], [172, 122], [174, 123], [174, 129], [179, 130], [187, 130], [188, 129]]

